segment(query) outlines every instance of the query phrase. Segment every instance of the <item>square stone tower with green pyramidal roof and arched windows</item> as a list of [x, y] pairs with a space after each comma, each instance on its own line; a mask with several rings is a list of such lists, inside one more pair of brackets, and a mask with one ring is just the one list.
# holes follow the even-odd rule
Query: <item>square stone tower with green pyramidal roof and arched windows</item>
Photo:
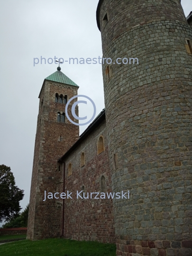
[[[61, 235], [62, 201], [44, 200], [44, 191], [63, 192], [64, 166], [57, 163], [79, 138], [79, 127], [65, 118], [68, 99], [77, 95], [78, 85], [69, 79], [61, 68], [48, 76], [39, 94], [39, 114], [35, 141], [33, 172], [27, 239], [59, 237]], [[69, 117], [71, 115], [69, 105]], [[78, 107], [76, 107], [78, 114]]]

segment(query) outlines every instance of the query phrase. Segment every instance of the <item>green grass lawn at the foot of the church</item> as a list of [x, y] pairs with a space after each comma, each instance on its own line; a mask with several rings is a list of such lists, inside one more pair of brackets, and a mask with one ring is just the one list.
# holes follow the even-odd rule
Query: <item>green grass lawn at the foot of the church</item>
[[115, 256], [116, 245], [69, 239], [21, 240], [0, 245], [2, 256]]

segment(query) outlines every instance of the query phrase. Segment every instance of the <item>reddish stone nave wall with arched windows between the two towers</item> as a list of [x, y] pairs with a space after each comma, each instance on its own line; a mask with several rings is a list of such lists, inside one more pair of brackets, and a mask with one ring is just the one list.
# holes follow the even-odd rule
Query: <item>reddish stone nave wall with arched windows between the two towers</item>
[[[97, 154], [98, 139], [104, 137], [104, 152]], [[85, 165], [80, 167], [81, 153], [85, 154]], [[95, 128], [69, 156], [65, 162], [65, 192], [73, 192], [73, 200], [65, 200], [64, 237], [76, 240], [97, 240], [115, 243], [114, 217], [111, 199], [77, 199], [76, 191], [82, 186], [87, 192], [101, 192], [101, 176], [104, 175], [107, 192], [111, 192], [111, 177], [108, 157], [106, 123]], [[72, 175], [68, 177], [68, 166], [72, 164]]]

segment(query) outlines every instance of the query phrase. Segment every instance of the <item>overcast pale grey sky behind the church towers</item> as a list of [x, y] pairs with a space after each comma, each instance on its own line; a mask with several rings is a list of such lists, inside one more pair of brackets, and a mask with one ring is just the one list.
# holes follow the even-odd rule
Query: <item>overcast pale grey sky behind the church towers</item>
[[[16, 185], [25, 190], [21, 207], [29, 202], [38, 115], [38, 95], [55, 64], [33, 58], [102, 56], [96, 24], [98, 0], [6, 0], [0, 3], [0, 165], [8, 165]], [[192, 0], [183, 0], [187, 16]], [[97, 115], [104, 108], [101, 65], [61, 65], [62, 72], [89, 96]], [[80, 116], [87, 115], [84, 104]], [[88, 115], [89, 116], [89, 115]], [[87, 126], [86, 126], [87, 127]], [[81, 127], [81, 133], [86, 127]]]

